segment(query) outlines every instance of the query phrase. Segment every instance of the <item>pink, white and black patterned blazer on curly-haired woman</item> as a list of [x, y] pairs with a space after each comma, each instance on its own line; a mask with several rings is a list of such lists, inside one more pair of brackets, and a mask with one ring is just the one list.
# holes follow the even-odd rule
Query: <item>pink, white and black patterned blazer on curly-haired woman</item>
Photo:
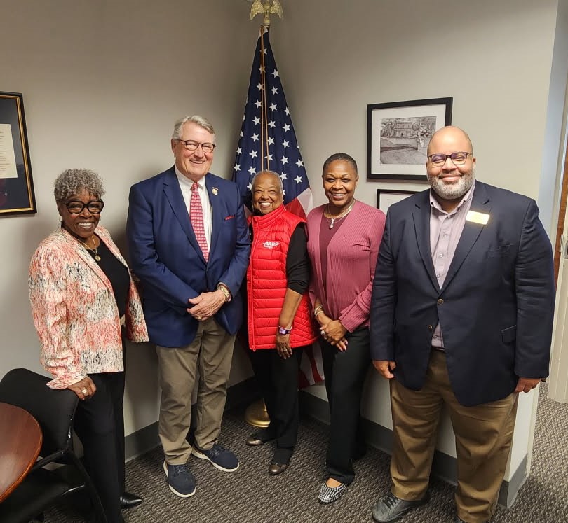
[[[95, 230], [126, 266], [109, 232]], [[52, 389], [66, 389], [88, 373], [123, 368], [121, 319], [112, 286], [86, 249], [64, 229], [39, 244], [29, 264], [29, 300], [41, 343], [41, 364], [53, 375]], [[130, 279], [126, 337], [147, 342], [142, 304]]]

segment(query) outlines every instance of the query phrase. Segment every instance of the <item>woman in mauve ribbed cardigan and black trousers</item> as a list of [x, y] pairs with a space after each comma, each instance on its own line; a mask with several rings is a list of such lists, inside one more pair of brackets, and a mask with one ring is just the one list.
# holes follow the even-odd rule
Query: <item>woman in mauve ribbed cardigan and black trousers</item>
[[353, 459], [365, 452], [360, 400], [371, 363], [369, 310], [385, 216], [353, 197], [359, 177], [351, 156], [336, 153], [327, 158], [322, 179], [328, 203], [310, 212], [307, 232], [309, 292], [320, 326], [330, 404], [327, 480], [318, 499], [332, 503], [353, 482]]

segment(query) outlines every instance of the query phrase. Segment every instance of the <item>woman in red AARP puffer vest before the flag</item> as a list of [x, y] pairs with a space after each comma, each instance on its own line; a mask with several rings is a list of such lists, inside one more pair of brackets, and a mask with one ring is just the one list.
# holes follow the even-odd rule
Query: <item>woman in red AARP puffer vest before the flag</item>
[[317, 338], [307, 295], [310, 265], [305, 220], [283, 206], [275, 172], [252, 179], [252, 233], [247, 271], [248, 344], [270, 425], [246, 440], [276, 440], [269, 474], [283, 473], [298, 437], [298, 372], [302, 349]]

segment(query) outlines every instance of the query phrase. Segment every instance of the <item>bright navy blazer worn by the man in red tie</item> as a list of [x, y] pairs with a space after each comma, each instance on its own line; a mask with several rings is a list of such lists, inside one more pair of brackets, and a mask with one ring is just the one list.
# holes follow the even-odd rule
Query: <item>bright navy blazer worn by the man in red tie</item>
[[250, 240], [241, 196], [235, 183], [210, 173], [205, 188], [212, 208], [207, 263], [173, 167], [130, 188], [130, 266], [142, 281], [150, 341], [162, 347], [182, 347], [194, 340], [198, 321], [187, 312], [187, 300], [215, 291], [219, 281], [229, 287], [233, 299], [215, 319], [231, 334], [243, 319], [238, 291], [248, 267]]

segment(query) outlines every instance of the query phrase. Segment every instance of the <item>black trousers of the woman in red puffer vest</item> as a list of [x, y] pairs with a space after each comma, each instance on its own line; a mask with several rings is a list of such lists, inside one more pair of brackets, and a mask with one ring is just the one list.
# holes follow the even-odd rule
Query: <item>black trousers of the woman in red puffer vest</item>
[[298, 440], [298, 372], [304, 347], [280, 358], [276, 349], [250, 352], [260, 392], [270, 417], [266, 431], [276, 438], [277, 449], [293, 449]]

